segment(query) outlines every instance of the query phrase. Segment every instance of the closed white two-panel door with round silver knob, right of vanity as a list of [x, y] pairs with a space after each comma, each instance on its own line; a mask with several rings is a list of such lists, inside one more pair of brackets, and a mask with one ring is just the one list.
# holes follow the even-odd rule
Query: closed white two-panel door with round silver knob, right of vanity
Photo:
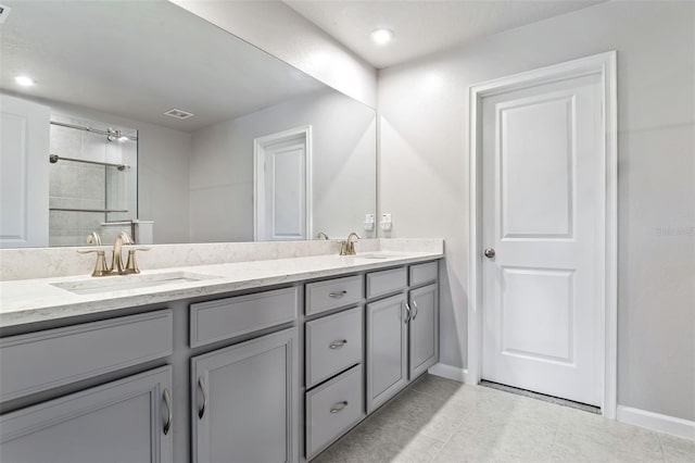
[[[482, 100], [482, 378], [599, 405], [601, 76]], [[488, 254], [490, 254], [488, 252]]]

